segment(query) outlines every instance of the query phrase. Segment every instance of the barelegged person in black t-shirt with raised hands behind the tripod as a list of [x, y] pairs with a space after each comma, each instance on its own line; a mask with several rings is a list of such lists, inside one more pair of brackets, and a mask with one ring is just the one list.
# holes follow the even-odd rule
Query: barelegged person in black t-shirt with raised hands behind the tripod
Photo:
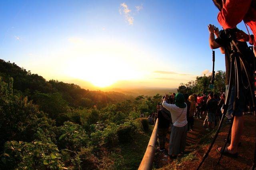
[[[210, 44], [210, 48], [212, 49], [217, 49], [220, 48], [221, 51], [223, 51], [225, 53], [225, 63], [226, 63], [226, 82], [227, 80], [229, 81], [229, 74], [230, 74], [230, 62], [229, 62], [229, 57], [230, 57], [230, 53], [231, 51], [231, 46], [230, 46], [230, 41], [229, 41], [229, 35], [226, 34], [225, 30], [221, 30], [219, 32], [219, 37], [217, 37], [215, 39], [214, 37], [214, 25], [208, 25], [208, 30], [210, 33], [210, 37], [209, 37], [209, 44]], [[239, 32], [241, 30], [239, 30], [238, 28], [236, 28], [236, 31]], [[251, 60], [254, 59], [254, 57], [252, 56], [252, 52], [250, 50], [248, 50], [248, 45], [246, 42], [241, 42], [241, 41], [237, 41], [238, 46], [240, 47], [240, 52], [243, 53], [245, 56], [251, 56], [248, 57], [246, 59], [247, 63], [253, 63]], [[250, 72], [249, 72], [250, 73]], [[242, 74], [244, 74], [242, 72]], [[244, 127], [244, 117], [243, 117], [243, 112], [244, 112], [244, 107], [245, 107], [245, 96], [246, 96], [246, 89], [241, 88], [240, 89], [240, 98], [237, 100], [236, 102], [236, 109], [233, 110], [233, 106], [234, 106], [234, 99], [235, 99], [235, 84], [234, 84], [234, 75], [231, 76], [231, 80], [232, 80], [232, 84], [229, 87], [228, 85], [226, 85], [226, 90], [231, 90], [231, 94], [230, 94], [230, 100], [228, 101], [228, 109], [227, 109], [227, 113], [226, 116], [231, 117], [234, 116], [234, 121], [233, 121], [233, 125], [232, 125], [232, 131], [231, 131], [231, 143], [230, 146], [223, 148], [223, 147], [218, 147], [217, 151], [221, 152], [222, 150], [224, 151], [223, 154], [228, 155], [228, 156], [232, 156], [232, 157], [237, 157], [238, 156], [238, 143], [241, 140], [241, 135], [243, 132], [243, 127]], [[243, 77], [242, 77], [243, 78]], [[245, 80], [246, 81], [246, 80]], [[226, 92], [227, 94], [227, 92]], [[229, 118], [228, 117], [228, 118]], [[229, 123], [229, 122], [225, 122], [225, 123]]]

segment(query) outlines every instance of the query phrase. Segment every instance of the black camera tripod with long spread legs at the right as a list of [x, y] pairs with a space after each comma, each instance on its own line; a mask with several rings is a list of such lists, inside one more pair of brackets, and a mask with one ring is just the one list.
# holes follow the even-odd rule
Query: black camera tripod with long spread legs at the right
[[[231, 30], [232, 31], [232, 30]], [[226, 32], [226, 31], [225, 31]], [[218, 137], [218, 133], [220, 132], [220, 128], [222, 126], [222, 123], [224, 121], [224, 117], [227, 113], [228, 110], [228, 104], [230, 101], [230, 96], [231, 96], [231, 91], [232, 91], [232, 86], [235, 87], [235, 98], [234, 98], [234, 103], [233, 103], [233, 117], [232, 117], [232, 121], [231, 121], [231, 125], [230, 125], [230, 129], [228, 131], [228, 135], [226, 139], [229, 139], [230, 137], [230, 133], [231, 133], [231, 129], [232, 129], [232, 125], [233, 125], [233, 121], [234, 121], [234, 116], [236, 113], [236, 107], [237, 107], [237, 102], [240, 98], [240, 90], [241, 90], [241, 83], [242, 81], [242, 74], [241, 74], [241, 68], [244, 71], [244, 74], [246, 75], [246, 79], [248, 82], [248, 87], [249, 88], [249, 92], [250, 92], [250, 96], [251, 96], [251, 100], [252, 100], [252, 108], [255, 114], [255, 96], [254, 93], [252, 91], [252, 76], [249, 74], [249, 70], [248, 69], [248, 63], [245, 61], [245, 57], [244, 55], [241, 53], [240, 49], [238, 48], [238, 46], [236, 45], [236, 40], [233, 38], [234, 33], [231, 34], [232, 32], [229, 32], [229, 38], [230, 38], [230, 45], [231, 45], [231, 54], [230, 54], [230, 74], [229, 74], [229, 83], [228, 83], [228, 94], [226, 96], [226, 100], [225, 100], [225, 104], [223, 106], [223, 114], [222, 114], [222, 118], [220, 120], [218, 129], [216, 134], [214, 135], [214, 139], [212, 140], [212, 143], [209, 147], [209, 149], [207, 150], [207, 152], [204, 154], [204, 157], [202, 159], [202, 161], [200, 162], [197, 170], [199, 170], [199, 168], [202, 166], [204, 160], [206, 160], [206, 158], [208, 157], [210, 150], [212, 149], [217, 137]], [[225, 51], [225, 53], [228, 51]], [[232, 78], [234, 76], [234, 78]], [[226, 140], [225, 145], [224, 145], [224, 149], [226, 148], [228, 140]], [[255, 146], [256, 147], [256, 146]], [[224, 149], [222, 149], [221, 154], [220, 154], [220, 158], [218, 160], [218, 163], [220, 162], [222, 155], [224, 153]], [[254, 162], [253, 162], [253, 169], [256, 167], [256, 150], [254, 151]]]

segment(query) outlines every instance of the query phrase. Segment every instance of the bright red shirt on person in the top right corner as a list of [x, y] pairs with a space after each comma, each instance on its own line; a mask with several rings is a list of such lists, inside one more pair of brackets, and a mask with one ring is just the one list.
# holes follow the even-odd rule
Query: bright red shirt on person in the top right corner
[[[242, 20], [256, 37], [256, 8], [252, 0], [226, 0], [218, 14], [218, 22], [224, 29], [235, 28]], [[254, 45], [256, 45], [254, 38]]]

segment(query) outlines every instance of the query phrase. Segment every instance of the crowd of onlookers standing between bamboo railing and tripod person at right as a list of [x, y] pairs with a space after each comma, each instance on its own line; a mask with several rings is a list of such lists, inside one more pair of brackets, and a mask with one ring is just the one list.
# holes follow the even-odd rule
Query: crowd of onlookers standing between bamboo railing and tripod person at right
[[[220, 97], [218, 97], [220, 96]], [[194, 118], [201, 119], [205, 115], [203, 127], [211, 131], [217, 125], [221, 116], [221, 109], [225, 101], [225, 92], [220, 95], [209, 92], [206, 94], [166, 94], [156, 106], [157, 113], [148, 117], [150, 124], [158, 118], [159, 151], [165, 150], [166, 135], [170, 131], [168, 154], [176, 157], [183, 154], [186, 136], [193, 131]], [[228, 121], [226, 121], [228, 123]]]

